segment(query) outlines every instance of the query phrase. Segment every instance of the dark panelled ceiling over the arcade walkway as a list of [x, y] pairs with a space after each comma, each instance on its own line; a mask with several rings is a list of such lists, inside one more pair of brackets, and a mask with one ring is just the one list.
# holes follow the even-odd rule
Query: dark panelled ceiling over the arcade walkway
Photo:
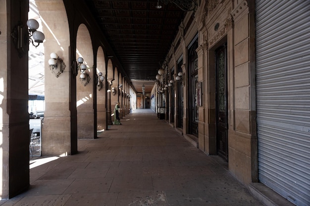
[[157, 0], [85, 0], [137, 92], [150, 93], [185, 12]]

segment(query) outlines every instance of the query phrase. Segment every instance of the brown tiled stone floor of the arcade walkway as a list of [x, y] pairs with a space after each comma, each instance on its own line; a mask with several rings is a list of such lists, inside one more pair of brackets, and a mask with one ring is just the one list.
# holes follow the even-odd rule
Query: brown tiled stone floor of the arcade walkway
[[[150, 110], [124, 117], [79, 154], [33, 166], [30, 189], [1, 206], [263, 206], [227, 171]], [[33, 167], [33, 168], [32, 168]]]

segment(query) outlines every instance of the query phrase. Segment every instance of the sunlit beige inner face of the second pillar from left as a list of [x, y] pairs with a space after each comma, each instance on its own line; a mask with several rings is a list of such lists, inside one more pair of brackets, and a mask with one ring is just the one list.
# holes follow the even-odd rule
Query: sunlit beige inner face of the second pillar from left
[[[71, 154], [71, 112], [70, 112], [70, 82], [72, 77], [69, 62], [70, 39], [67, 15], [63, 4], [55, 7], [54, 1], [37, 2], [40, 15], [47, 25], [58, 25], [61, 30], [50, 30], [43, 24], [45, 53], [45, 112], [42, 126], [42, 155], [66, 156]], [[61, 12], [59, 12], [61, 10]], [[57, 15], [54, 15], [57, 13]], [[56, 39], [60, 42], [57, 43]], [[57, 77], [52, 73], [48, 61], [52, 52], [57, 53], [63, 61], [63, 72]], [[60, 64], [58, 63], [57, 70]], [[75, 83], [75, 81], [74, 81]], [[75, 86], [74, 86], [75, 88]], [[74, 95], [75, 96], [75, 95]], [[75, 113], [75, 111], [73, 111]]]

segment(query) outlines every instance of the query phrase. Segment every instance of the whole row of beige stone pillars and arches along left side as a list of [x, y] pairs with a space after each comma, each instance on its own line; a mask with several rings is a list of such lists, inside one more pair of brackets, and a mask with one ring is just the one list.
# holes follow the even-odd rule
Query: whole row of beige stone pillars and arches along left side
[[[34, 0], [45, 34], [45, 114], [42, 125], [42, 155], [76, 154], [79, 138], [96, 138], [98, 130], [112, 124], [115, 102], [130, 108], [135, 91], [124, 70], [117, 65], [109, 47], [84, 1]], [[26, 25], [29, 1], [1, 0], [0, 52], [8, 58], [1, 69], [1, 180], [0, 196], [11, 198], [29, 187], [29, 114], [28, 114], [28, 44], [16, 51], [9, 35], [18, 23]], [[20, 11], [19, 15], [16, 12]], [[2, 41], [4, 40], [4, 41]], [[6, 44], [4, 42], [10, 42]], [[2, 46], [3, 45], [3, 46]], [[52, 52], [63, 62], [64, 70], [56, 77], [49, 67]], [[81, 79], [77, 59], [83, 57], [86, 78]], [[4, 73], [3, 73], [4, 72]], [[99, 81], [102, 73], [103, 81]], [[16, 78], [18, 77], [18, 83]], [[121, 85], [121, 86], [120, 86]], [[115, 93], [111, 94], [111, 88]], [[7, 92], [3, 92], [7, 89]], [[129, 114], [124, 110], [122, 116]], [[10, 138], [3, 138], [3, 137]]]

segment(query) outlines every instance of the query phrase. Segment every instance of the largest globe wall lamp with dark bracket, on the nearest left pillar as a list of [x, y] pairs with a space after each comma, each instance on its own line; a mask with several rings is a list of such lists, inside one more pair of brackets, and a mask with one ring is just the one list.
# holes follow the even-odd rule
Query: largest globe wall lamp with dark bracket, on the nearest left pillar
[[[38, 47], [40, 43], [42, 43], [45, 39], [45, 36], [42, 32], [37, 31], [39, 28], [39, 22], [35, 19], [29, 19], [27, 21], [27, 26], [29, 29], [27, 29], [26, 26], [24, 26], [21, 21], [13, 28], [13, 31], [11, 33], [11, 37], [13, 39], [13, 43], [15, 45], [15, 48], [18, 51], [18, 56], [21, 58], [26, 51], [24, 50], [26, 44], [32, 43], [35, 47]], [[28, 35], [27, 35], [28, 33]], [[32, 38], [33, 39], [32, 39]], [[35, 43], [37, 43], [35, 45]]]

